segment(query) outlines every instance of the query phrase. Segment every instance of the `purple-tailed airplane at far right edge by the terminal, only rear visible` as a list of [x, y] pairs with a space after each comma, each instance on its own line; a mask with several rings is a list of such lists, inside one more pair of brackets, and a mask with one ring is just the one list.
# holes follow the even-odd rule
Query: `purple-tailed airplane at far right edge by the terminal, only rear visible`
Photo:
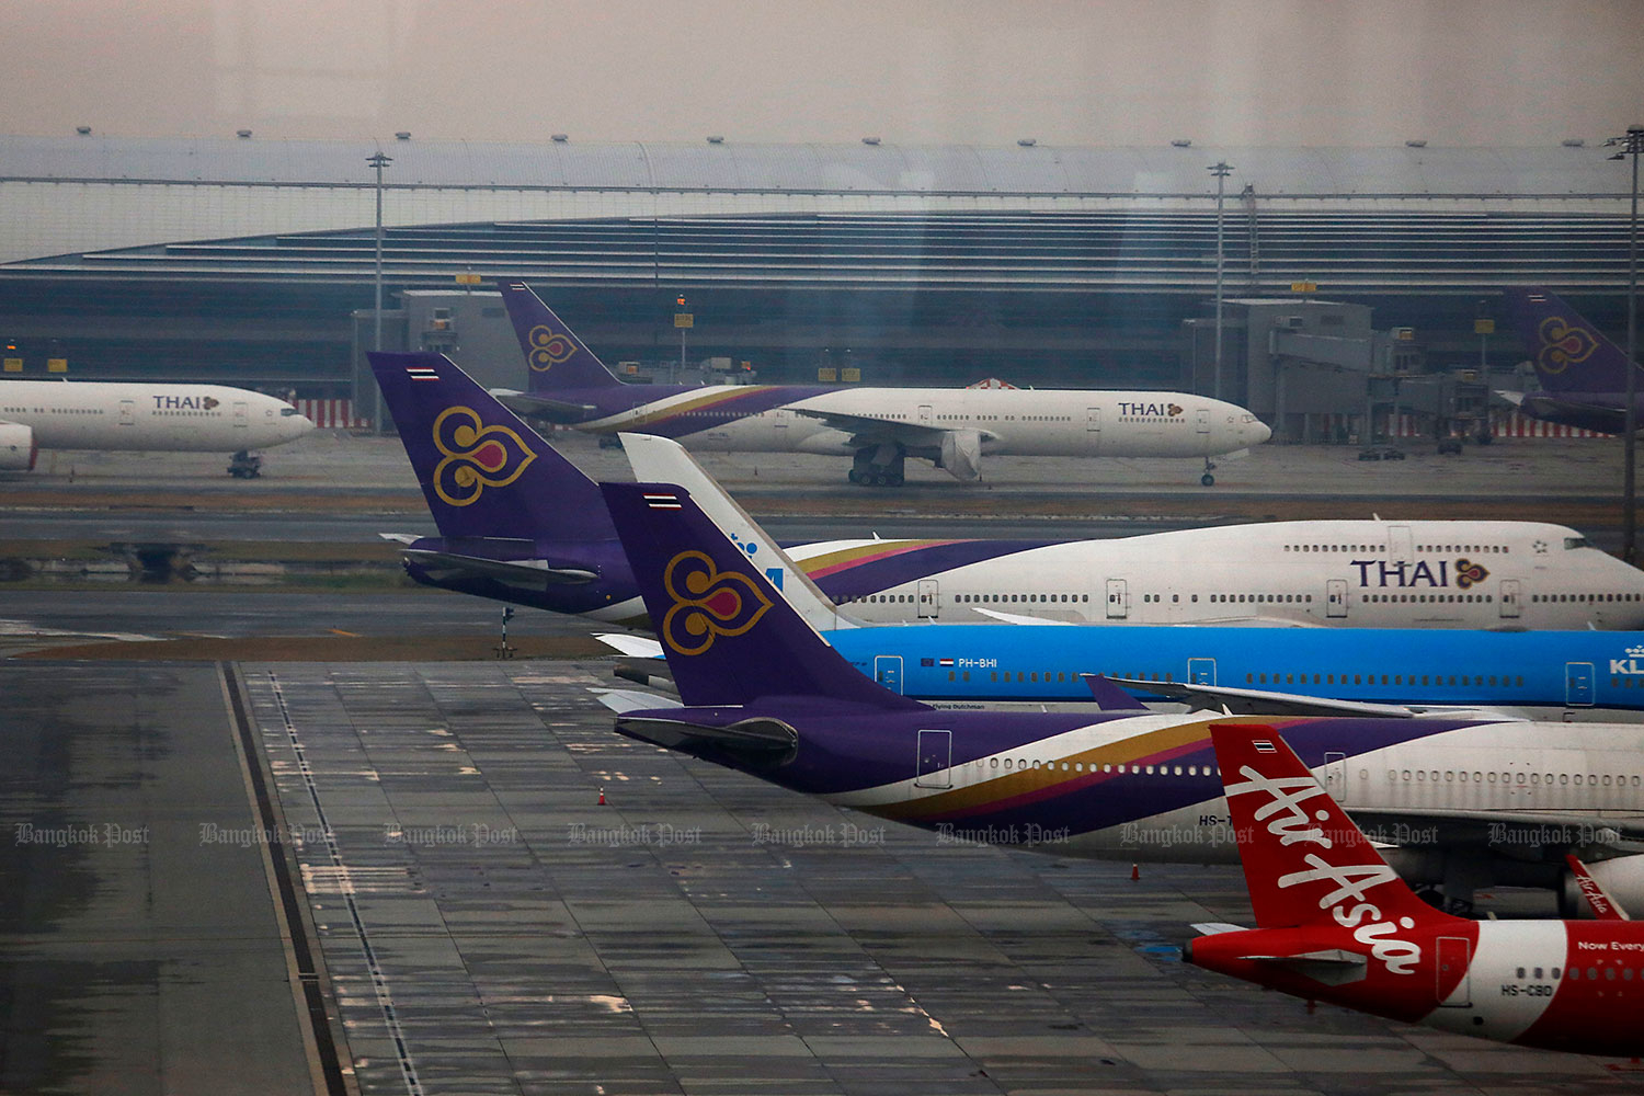
[[1568, 304], [1540, 288], [1506, 289], [1508, 312], [1531, 355], [1539, 393], [1496, 393], [1532, 419], [1583, 431], [1626, 431], [1628, 370], [1634, 422], [1644, 427], [1644, 371]]

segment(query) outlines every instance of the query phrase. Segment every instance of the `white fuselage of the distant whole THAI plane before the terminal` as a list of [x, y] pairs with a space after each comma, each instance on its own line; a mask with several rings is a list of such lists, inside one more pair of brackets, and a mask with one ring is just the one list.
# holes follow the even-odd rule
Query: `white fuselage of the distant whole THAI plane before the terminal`
[[[977, 431], [981, 452], [1024, 457], [1215, 457], [1259, 445], [1271, 431], [1236, 404], [1187, 393], [1031, 388], [858, 388], [745, 414], [705, 388], [593, 419], [593, 432], [653, 429], [709, 452], [852, 454], [853, 432], [825, 416], [871, 421], [903, 437]], [[817, 417], [824, 416], [824, 417]], [[700, 422], [699, 429], [690, 429]], [[687, 432], [689, 431], [689, 432]]]

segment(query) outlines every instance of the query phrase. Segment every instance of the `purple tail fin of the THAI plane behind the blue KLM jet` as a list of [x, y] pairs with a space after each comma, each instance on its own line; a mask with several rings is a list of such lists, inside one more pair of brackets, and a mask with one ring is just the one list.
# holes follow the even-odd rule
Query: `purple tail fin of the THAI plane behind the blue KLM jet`
[[447, 539], [608, 541], [598, 485], [442, 353], [372, 353], [372, 371]]

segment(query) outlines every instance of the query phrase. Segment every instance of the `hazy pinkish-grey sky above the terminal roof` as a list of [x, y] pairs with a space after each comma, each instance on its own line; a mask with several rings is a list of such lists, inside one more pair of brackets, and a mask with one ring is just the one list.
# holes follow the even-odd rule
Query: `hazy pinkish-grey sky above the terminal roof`
[[1644, 0], [8, 0], [10, 133], [1542, 145]]

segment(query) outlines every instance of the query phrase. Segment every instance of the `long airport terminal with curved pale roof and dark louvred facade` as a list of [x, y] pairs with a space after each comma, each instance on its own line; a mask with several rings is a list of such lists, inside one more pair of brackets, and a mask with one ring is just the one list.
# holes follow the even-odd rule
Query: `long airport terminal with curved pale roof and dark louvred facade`
[[[378, 169], [370, 158], [386, 156]], [[8, 375], [357, 396], [376, 337], [523, 383], [520, 278], [636, 376], [1159, 386], [1284, 408], [1277, 337], [1406, 373], [1519, 360], [1496, 289], [1624, 329], [1631, 177], [1549, 148], [0, 138]], [[1210, 171], [1225, 163], [1218, 179]], [[380, 174], [380, 184], [378, 184]], [[1220, 214], [1218, 214], [1220, 205]], [[686, 299], [684, 309], [679, 297]], [[692, 325], [681, 335], [676, 314]], [[1397, 347], [1373, 345], [1396, 332]], [[1386, 335], [1383, 335], [1386, 337]], [[1310, 353], [1310, 352], [1309, 352]], [[1271, 358], [1271, 360], [1269, 360]], [[1342, 363], [1325, 361], [1330, 368]], [[1346, 368], [1353, 368], [1351, 363]], [[666, 378], [664, 378], [666, 380]], [[1480, 378], [1485, 380], [1485, 378]], [[1292, 401], [1305, 385], [1292, 385]], [[1323, 401], [1363, 403], [1323, 386]], [[1363, 381], [1358, 381], [1363, 389]], [[1342, 411], [1351, 411], [1345, 406]], [[1294, 432], [1292, 432], [1294, 434]]]

